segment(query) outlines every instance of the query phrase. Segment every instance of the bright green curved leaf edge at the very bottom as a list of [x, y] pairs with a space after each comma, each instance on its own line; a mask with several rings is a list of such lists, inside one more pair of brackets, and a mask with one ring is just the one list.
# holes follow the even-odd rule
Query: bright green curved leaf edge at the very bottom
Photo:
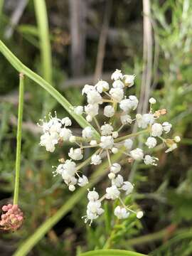
[[127, 250], [94, 250], [81, 253], [80, 256], [144, 256], [142, 253], [131, 252]]

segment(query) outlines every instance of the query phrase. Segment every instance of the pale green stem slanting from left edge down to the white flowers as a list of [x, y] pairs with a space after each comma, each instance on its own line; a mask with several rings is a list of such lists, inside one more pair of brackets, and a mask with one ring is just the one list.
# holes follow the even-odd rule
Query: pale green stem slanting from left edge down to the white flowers
[[[49, 92], [50, 95], [52, 95], [55, 100], [57, 100], [60, 105], [65, 108], [65, 110], [78, 122], [78, 124], [80, 124], [82, 128], [85, 128], [87, 126], [92, 127], [91, 124], [85, 120], [85, 118], [83, 118], [81, 115], [75, 114], [75, 112], [73, 111], [73, 106], [70, 104], [70, 102], [68, 102], [68, 100], [65, 99], [65, 97], [60, 94], [60, 92], [55, 90], [55, 88], [50, 85], [50, 83], [46, 82], [46, 80], [41, 78], [41, 76], [37, 75], [32, 70], [27, 68], [26, 65], [23, 65], [23, 63], [21, 63], [21, 61], [18, 60], [18, 58], [16, 58], [13, 53], [11, 53], [11, 51], [4, 45], [1, 40], [0, 51], [4, 55], [4, 57], [9, 60], [11, 65], [13, 65], [16, 70], [18, 70], [19, 73], [23, 73], [23, 75], [31, 78], [31, 80], [37, 82], [38, 85], [40, 85], [41, 87], [43, 87], [43, 89]], [[95, 139], [100, 140], [100, 134], [94, 129], [94, 127], [92, 127], [92, 130], [94, 131]]]

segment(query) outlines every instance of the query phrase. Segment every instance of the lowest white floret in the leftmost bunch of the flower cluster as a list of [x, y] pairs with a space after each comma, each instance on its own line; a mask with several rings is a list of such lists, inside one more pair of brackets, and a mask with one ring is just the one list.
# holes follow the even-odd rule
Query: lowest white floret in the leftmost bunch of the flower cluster
[[55, 150], [55, 144], [58, 144], [58, 134], [56, 132], [52, 132], [49, 134], [46, 132], [41, 135], [40, 146], [46, 146], [46, 151], [53, 152]]

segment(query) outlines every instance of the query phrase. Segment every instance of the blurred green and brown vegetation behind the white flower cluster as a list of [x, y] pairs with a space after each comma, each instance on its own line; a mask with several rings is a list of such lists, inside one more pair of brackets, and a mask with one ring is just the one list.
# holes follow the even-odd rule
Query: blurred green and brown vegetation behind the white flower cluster
[[[85, 83], [92, 84], [97, 78], [109, 80], [114, 69], [122, 69], [137, 75], [133, 93], [139, 97], [140, 92], [148, 90], [158, 100], [157, 107], [166, 107], [173, 136], [182, 137], [173, 154], [156, 151], [159, 166], [133, 166], [136, 192], [127, 201], [136, 201], [144, 210], [141, 221], [128, 218], [121, 225], [107, 225], [103, 216], [87, 227], [81, 220], [87, 203], [86, 196], [82, 196], [29, 255], [76, 255], [100, 249], [106, 242], [113, 248], [147, 255], [192, 255], [192, 1], [143, 2], [150, 4], [146, 25], [142, 0], [0, 0], [1, 40], [73, 105], [83, 103], [80, 89]], [[144, 80], [147, 72], [150, 79]], [[0, 73], [3, 205], [11, 201], [14, 190], [18, 105], [18, 74], [3, 55]], [[66, 114], [27, 79], [20, 191], [25, 222], [16, 233], [1, 232], [1, 255], [12, 255], [70, 198], [60, 178], [53, 178], [51, 173], [51, 166], [67, 154], [68, 145], [54, 154], [38, 146], [40, 131], [36, 123], [50, 110], [56, 110], [59, 117]], [[78, 124], [75, 127], [78, 132]], [[110, 207], [105, 205], [109, 214]]]

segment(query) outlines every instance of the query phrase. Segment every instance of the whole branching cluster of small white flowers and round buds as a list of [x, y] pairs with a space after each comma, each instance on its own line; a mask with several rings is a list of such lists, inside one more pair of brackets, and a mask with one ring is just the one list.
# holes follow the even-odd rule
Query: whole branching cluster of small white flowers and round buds
[[[80, 165], [77, 165], [75, 161], [80, 161], [84, 158], [84, 151], [87, 148], [96, 149], [96, 151], [90, 156], [90, 164], [97, 166], [102, 163], [102, 159], [106, 156], [109, 163], [110, 186], [106, 188], [104, 196], [99, 198], [98, 193], [94, 191], [88, 192], [87, 215], [85, 222], [95, 220], [99, 215], [103, 213], [101, 202], [104, 199], [119, 200], [121, 206], [117, 206], [114, 209], [114, 215], [117, 218], [127, 218], [130, 212], [133, 210], [127, 208], [124, 205], [120, 196], [121, 192], [125, 195], [132, 193], [133, 185], [129, 181], [124, 181], [122, 175], [119, 172], [122, 166], [119, 163], [112, 163], [111, 154], [117, 154], [119, 150], [128, 156], [130, 163], [132, 161], [143, 161], [146, 165], [156, 166], [159, 159], [151, 156], [149, 153], [144, 154], [144, 150], [135, 146], [134, 138], [140, 134], [148, 134], [145, 145], [147, 151], [153, 149], [158, 141], [168, 146], [166, 152], [176, 149], [176, 143], [180, 141], [180, 137], [176, 136], [174, 139], [164, 139], [163, 134], [168, 134], [171, 130], [171, 124], [169, 122], [157, 122], [157, 119], [161, 115], [166, 114], [166, 110], [153, 111], [153, 105], [156, 104], [156, 100], [151, 98], [149, 100], [150, 108], [146, 114], [133, 114], [137, 109], [139, 101], [135, 95], [125, 95], [127, 87], [134, 85], [135, 75], [123, 75], [121, 70], [115, 70], [112, 74], [112, 86], [103, 80], [99, 80], [96, 85], [85, 85], [82, 89], [82, 95], [87, 97], [87, 105], [74, 107], [75, 114], [85, 114], [87, 122], [92, 122], [92, 126], [95, 126], [99, 138], [95, 138], [94, 130], [92, 126], [87, 126], [82, 129], [82, 136], [75, 136], [69, 129], [71, 126], [71, 120], [68, 117], [58, 119], [52, 117], [49, 114], [49, 120], [41, 120], [41, 127], [43, 129], [43, 135], [41, 136], [41, 146], [46, 146], [46, 150], [53, 152], [55, 145], [58, 142], [70, 142], [78, 147], [71, 147], [68, 156], [70, 159], [63, 160], [59, 164], [54, 175], [60, 174], [63, 177], [64, 182], [68, 185], [70, 191], [75, 190], [75, 185], [86, 186], [88, 179], [85, 175], [80, 176], [78, 171], [85, 166], [88, 161], [82, 161]], [[97, 115], [100, 112], [105, 117], [105, 122], [100, 124], [97, 120]], [[115, 121], [115, 122], [114, 122]], [[137, 122], [137, 126], [141, 131], [135, 134], [127, 134], [124, 127], [130, 127], [132, 122]], [[119, 127], [118, 127], [119, 125]], [[123, 136], [120, 132], [123, 130]], [[135, 212], [134, 212], [135, 213]], [[142, 218], [142, 211], [139, 211], [137, 218]], [[83, 218], [84, 218], [83, 217]]]

